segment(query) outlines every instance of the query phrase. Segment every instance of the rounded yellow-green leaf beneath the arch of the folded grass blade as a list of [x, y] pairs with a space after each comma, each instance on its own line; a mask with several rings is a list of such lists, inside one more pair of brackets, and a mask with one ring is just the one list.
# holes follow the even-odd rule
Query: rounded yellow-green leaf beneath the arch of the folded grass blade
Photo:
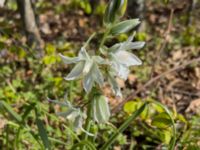
[[165, 112], [156, 115], [151, 123], [153, 126], [158, 128], [167, 128], [172, 125], [169, 115]]

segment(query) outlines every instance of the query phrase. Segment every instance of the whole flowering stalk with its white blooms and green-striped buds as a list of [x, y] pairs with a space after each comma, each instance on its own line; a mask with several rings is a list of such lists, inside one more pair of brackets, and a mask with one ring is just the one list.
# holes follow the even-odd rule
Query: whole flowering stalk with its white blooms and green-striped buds
[[[66, 80], [82, 79], [83, 88], [89, 95], [87, 113], [85, 109], [75, 108], [69, 103], [60, 103], [67, 107], [67, 111], [59, 113], [74, 124], [75, 130], [81, 130], [87, 133], [82, 127], [85, 116], [87, 119], [93, 119], [97, 123], [107, 123], [110, 117], [108, 98], [102, 94], [100, 89], [108, 81], [113, 93], [122, 97], [120, 87], [116, 78], [126, 80], [130, 72], [130, 67], [141, 65], [142, 61], [134, 55], [131, 50], [140, 49], [144, 42], [133, 42], [134, 35], [126, 41], [114, 44], [111, 47], [105, 45], [106, 39], [113, 38], [120, 34], [132, 31], [139, 23], [139, 19], [130, 19], [119, 22], [124, 15], [127, 6], [127, 0], [110, 0], [105, 14], [104, 26], [105, 33], [100, 42], [95, 55], [90, 55], [86, 46], [91, 41], [93, 35], [86, 44], [81, 47], [77, 57], [68, 57], [59, 54], [65, 64], [75, 64], [71, 72], [65, 77]], [[53, 101], [58, 103], [57, 101]], [[87, 115], [86, 115], [87, 114]], [[87, 129], [86, 121], [86, 129]], [[90, 134], [90, 133], [87, 133]]]

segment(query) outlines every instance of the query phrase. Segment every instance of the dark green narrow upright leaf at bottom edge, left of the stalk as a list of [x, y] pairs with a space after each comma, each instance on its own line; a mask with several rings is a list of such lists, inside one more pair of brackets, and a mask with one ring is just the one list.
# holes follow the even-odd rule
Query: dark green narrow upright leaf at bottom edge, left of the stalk
[[50, 150], [51, 146], [50, 146], [50, 142], [49, 142], [49, 139], [48, 139], [48, 136], [47, 136], [46, 129], [43, 125], [42, 120], [38, 118], [37, 112], [36, 112], [36, 124], [37, 124], [38, 130], [39, 130], [39, 136], [40, 136], [40, 138], [43, 142], [45, 149]]

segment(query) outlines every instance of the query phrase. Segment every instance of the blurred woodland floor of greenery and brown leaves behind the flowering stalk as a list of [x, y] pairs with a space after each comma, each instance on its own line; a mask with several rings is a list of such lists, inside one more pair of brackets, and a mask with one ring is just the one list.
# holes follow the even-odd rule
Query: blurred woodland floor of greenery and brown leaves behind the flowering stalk
[[[70, 68], [63, 65], [58, 53], [75, 56], [80, 45], [97, 31], [99, 37], [91, 45], [95, 50], [108, 1], [27, 0], [30, 5], [25, 1], [0, 1], [0, 149], [43, 149], [42, 143], [52, 149], [71, 149], [79, 137], [65, 119], [55, 115], [62, 108], [47, 98], [62, 100], [67, 92], [70, 101], [80, 106], [85, 95], [80, 81], [63, 79]], [[31, 9], [27, 11], [24, 7], [28, 5]], [[34, 16], [27, 19], [26, 11]], [[125, 18], [142, 20], [136, 40], [146, 41], [146, 46], [135, 51], [143, 65], [132, 68], [126, 82], [118, 81], [124, 97], [157, 75], [200, 57], [199, 15], [198, 0], [129, 0]], [[125, 39], [124, 34], [115, 41]], [[105, 85], [104, 93], [116, 110], [123, 99], [116, 99], [110, 91]], [[101, 132], [96, 146], [148, 99], [171, 109], [178, 130], [177, 149], [200, 149], [199, 61], [162, 76], [137, 92], [123, 109], [113, 111], [110, 122], [116, 127], [98, 125]], [[154, 106], [120, 134], [112, 149], [164, 149], [172, 136], [169, 127], [168, 118]], [[94, 132], [97, 129], [93, 125]]]

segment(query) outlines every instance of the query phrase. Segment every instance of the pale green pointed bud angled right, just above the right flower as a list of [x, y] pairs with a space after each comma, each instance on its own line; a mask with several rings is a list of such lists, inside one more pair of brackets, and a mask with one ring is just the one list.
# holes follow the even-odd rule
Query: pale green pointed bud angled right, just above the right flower
[[139, 23], [140, 23], [139, 19], [122, 21], [111, 28], [110, 34], [118, 35], [122, 33], [127, 33], [131, 31], [133, 28], [135, 28]]

